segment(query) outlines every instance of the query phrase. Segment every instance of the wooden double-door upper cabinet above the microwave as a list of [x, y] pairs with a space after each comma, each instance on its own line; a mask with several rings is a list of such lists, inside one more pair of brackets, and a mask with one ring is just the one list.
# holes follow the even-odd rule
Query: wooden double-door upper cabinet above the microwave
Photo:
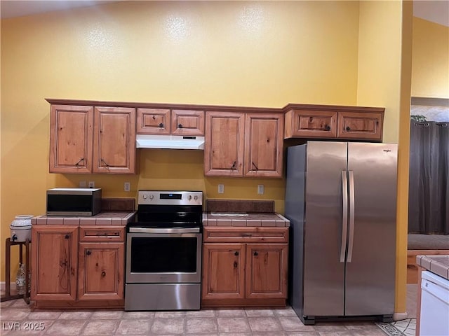
[[135, 174], [135, 109], [51, 105], [51, 173]]

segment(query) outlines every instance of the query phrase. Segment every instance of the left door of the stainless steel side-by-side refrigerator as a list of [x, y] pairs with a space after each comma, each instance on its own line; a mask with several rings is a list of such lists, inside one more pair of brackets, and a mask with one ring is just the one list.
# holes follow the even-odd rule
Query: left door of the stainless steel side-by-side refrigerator
[[304, 223], [304, 316], [344, 314], [342, 171], [347, 143], [309, 141]]

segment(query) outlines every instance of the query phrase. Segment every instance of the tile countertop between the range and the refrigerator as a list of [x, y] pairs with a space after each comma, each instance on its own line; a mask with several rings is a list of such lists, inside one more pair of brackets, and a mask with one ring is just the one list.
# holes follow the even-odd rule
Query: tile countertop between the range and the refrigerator
[[287, 218], [273, 214], [210, 212], [203, 214], [203, 226], [278, 226], [289, 227]]

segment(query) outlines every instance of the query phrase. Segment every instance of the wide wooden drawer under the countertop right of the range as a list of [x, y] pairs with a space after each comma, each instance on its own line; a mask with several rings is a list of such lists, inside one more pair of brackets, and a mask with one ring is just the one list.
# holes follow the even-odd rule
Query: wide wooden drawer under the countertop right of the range
[[288, 228], [203, 228], [203, 241], [207, 243], [286, 243]]

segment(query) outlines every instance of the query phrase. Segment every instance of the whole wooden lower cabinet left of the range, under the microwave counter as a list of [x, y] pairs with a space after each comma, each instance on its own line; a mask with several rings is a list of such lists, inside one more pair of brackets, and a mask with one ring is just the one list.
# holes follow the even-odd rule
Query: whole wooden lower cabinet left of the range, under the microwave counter
[[33, 225], [31, 299], [36, 307], [123, 307], [124, 230]]

